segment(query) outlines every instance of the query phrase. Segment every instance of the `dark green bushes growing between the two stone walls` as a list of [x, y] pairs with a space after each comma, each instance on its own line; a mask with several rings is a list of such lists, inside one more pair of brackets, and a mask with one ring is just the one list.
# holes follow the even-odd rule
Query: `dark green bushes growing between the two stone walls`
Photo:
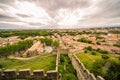
[[62, 75], [62, 80], [77, 80], [76, 71], [70, 58], [65, 54], [60, 55], [59, 73]]

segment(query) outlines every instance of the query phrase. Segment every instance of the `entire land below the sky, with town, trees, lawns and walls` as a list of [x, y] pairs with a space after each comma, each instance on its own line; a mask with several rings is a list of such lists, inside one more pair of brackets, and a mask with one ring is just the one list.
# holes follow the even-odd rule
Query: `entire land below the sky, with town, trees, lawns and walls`
[[120, 28], [0, 31], [2, 80], [117, 80], [119, 63]]

